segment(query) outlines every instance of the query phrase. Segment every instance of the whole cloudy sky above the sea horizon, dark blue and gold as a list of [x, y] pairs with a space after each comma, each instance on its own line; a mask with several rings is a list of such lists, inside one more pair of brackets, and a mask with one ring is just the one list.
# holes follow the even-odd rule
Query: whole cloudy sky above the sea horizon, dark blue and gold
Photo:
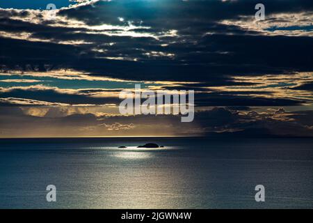
[[[0, 0], [0, 137], [312, 137], [313, 1], [257, 3]], [[120, 114], [135, 84], [193, 122]]]

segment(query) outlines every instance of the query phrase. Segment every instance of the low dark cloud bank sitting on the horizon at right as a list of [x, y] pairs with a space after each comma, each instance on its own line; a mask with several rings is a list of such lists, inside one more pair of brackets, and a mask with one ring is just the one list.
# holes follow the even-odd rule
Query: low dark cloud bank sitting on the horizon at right
[[307, 118], [312, 119], [312, 111], [285, 112], [281, 108], [273, 113], [214, 108], [195, 114], [195, 120], [200, 121], [206, 132], [204, 134], [217, 136], [219, 133], [220, 136], [232, 137], [312, 137], [312, 121]]

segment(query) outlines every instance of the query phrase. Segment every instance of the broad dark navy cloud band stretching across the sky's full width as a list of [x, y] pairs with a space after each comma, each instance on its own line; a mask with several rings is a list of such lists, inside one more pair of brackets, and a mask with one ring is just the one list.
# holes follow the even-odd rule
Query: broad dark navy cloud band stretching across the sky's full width
[[[117, 40], [111, 38], [113, 42]], [[142, 53], [155, 50], [156, 47], [148, 44], [147, 48], [138, 49], [136, 43], [131, 47], [131, 42], [127, 41], [127, 48], [119, 47], [119, 44], [105, 47], [109, 52], [97, 55], [129, 56], [141, 59], [139, 62], [96, 59], [95, 52], [88, 51], [90, 45], [57, 45], [2, 38], [1, 52], [6, 54], [1, 62], [23, 64], [50, 61], [66, 64], [76, 70], [106, 73], [116, 78], [213, 84], [216, 81], [228, 84], [229, 76], [237, 73], [258, 75], [313, 70], [313, 52], [308, 50], [313, 48], [310, 37], [212, 35], [202, 38], [199, 45], [187, 46], [186, 49], [182, 49], [184, 45], [176, 46], [176, 50], [165, 47], [163, 51], [176, 54], [175, 59], [146, 59]], [[220, 54], [218, 50], [230, 53]]]

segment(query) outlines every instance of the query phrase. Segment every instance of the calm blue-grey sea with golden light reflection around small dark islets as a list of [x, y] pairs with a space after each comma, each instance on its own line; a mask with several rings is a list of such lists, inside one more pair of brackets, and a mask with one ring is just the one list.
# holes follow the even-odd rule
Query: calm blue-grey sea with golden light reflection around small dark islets
[[313, 139], [0, 139], [0, 208], [313, 208]]

